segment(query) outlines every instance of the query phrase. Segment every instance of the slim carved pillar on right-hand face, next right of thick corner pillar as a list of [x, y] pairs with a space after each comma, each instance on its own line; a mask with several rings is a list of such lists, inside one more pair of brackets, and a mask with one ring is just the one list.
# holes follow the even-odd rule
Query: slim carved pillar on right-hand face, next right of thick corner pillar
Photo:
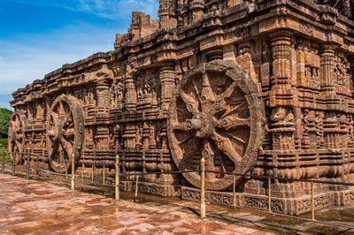
[[320, 87], [326, 95], [335, 95], [335, 49], [334, 44], [325, 44], [320, 50]]

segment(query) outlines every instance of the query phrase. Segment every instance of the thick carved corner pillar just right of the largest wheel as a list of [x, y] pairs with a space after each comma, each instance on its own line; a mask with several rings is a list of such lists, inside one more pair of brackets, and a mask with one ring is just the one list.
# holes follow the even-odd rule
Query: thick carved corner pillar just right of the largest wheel
[[283, 30], [270, 36], [273, 56], [270, 106], [294, 106], [294, 92], [291, 87], [291, 32]]

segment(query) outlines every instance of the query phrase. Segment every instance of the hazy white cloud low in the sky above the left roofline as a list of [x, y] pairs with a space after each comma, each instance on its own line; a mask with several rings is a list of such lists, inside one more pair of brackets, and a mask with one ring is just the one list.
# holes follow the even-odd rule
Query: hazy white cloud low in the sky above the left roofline
[[51, 34], [0, 40], [0, 95], [9, 95], [62, 66], [113, 49], [114, 29], [78, 25]]

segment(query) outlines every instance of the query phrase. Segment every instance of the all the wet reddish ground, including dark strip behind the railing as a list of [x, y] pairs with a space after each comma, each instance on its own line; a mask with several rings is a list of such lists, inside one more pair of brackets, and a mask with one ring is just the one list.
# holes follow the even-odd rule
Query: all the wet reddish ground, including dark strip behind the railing
[[[112, 191], [105, 194], [112, 196]], [[90, 192], [0, 175], [0, 234], [354, 234], [339, 226], [217, 205], [207, 205], [208, 218], [200, 220], [199, 204], [193, 201], [142, 193], [137, 201], [132, 193], [114, 201]], [[316, 216], [354, 226], [354, 207]]]

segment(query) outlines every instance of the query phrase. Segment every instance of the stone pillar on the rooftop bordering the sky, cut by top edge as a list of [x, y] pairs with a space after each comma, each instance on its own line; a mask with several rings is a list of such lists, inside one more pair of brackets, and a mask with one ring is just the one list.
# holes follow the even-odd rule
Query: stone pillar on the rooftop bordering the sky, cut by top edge
[[177, 27], [176, 0], [160, 0], [158, 10], [159, 27]]

